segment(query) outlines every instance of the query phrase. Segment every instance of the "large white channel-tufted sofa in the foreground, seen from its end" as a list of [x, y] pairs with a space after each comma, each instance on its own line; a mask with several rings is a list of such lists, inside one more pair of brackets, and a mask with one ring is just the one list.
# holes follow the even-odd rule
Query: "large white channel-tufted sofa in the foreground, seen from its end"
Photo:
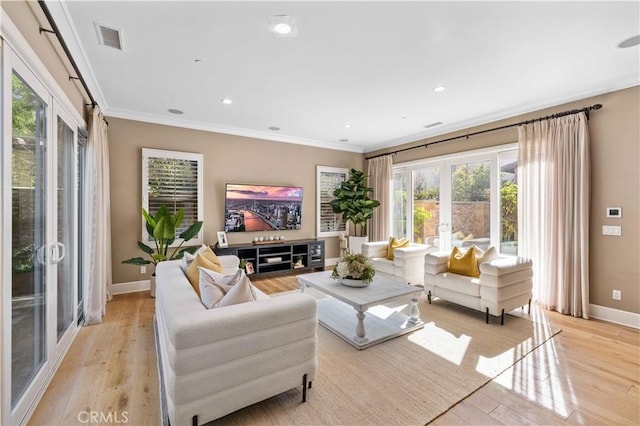
[[[236, 256], [219, 256], [224, 272]], [[317, 304], [291, 293], [207, 310], [181, 261], [156, 268], [156, 339], [172, 425], [202, 424], [297, 386], [317, 369]]]

